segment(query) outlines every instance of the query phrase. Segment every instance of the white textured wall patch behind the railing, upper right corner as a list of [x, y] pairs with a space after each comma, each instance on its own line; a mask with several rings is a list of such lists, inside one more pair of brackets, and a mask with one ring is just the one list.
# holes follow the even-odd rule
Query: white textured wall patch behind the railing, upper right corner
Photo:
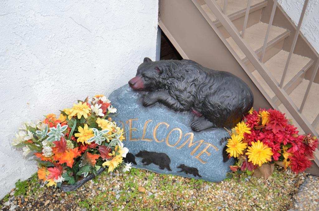
[[[304, 2], [304, 0], [278, 0], [295, 25], [298, 25]], [[319, 0], [309, 0], [300, 31], [319, 53]]]

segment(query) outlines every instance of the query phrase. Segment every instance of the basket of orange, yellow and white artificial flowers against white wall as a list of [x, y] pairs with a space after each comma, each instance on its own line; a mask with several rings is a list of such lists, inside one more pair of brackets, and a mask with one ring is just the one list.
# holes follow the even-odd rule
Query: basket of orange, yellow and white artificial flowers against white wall
[[32, 152], [37, 157], [39, 179], [57, 187], [96, 176], [101, 166], [108, 172], [130, 170], [131, 164], [123, 162], [129, 151], [123, 147], [123, 129], [109, 117], [116, 109], [104, 95], [78, 100], [60, 112], [57, 119], [48, 114], [43, 121], [24, 124], [12, 143], [24, 156]]

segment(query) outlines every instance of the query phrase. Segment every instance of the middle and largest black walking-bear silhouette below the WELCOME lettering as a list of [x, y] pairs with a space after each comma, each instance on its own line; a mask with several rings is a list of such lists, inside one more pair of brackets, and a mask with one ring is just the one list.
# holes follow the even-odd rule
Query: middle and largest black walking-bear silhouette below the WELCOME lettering
[[135, 156], [141, 157], [143, 165], [155, 164], [159, 166], [159, 169], [167, 169], [168, 171], [172, 171], [169, 168], [169, 164], [171, 164], [171, 159], [165, 153], [158, 152], [149, 152], [145, 150], [140, 150]]

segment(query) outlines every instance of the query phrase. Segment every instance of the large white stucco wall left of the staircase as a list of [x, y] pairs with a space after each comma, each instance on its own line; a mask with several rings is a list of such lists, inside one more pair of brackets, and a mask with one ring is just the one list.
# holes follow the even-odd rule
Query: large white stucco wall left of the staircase
[[11, 146], [22, 122], [109, 95], [155, 59], [158, 0], [0, 2], [0, 199], [36, 171]]

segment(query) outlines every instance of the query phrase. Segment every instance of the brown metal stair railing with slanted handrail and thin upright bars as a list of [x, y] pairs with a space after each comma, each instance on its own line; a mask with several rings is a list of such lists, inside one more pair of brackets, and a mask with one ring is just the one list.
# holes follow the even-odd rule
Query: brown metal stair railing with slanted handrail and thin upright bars
[[[194, 2], [194, 0], [192, 0]], [[266, 68], [266, 66], [263, 63], [263, 57], [265, 55], [265, 51], [266, 51], [266, 46], [267, 46], [267, 42], [268, 42], [268, 38], [269, 38], [269, 33], [271, 30], [271, 25], [274, 19], [274, 15], [276, 12], [276, 8], [277, 8], [277, 3], [278, 0], [274, 0], [274, 4], [272, 7], [272, 11], [271, 11], [271, 16], [269, 19], [269, 24], [267, 27], [267, 32], [265, 34], [265, 39], [263, 42], [263, 47], [262, 47], [262, 51], [261, 51], [261, 55], [260, 57], [256, 54], [256, 52], [249, 46], [249, 44], [247, 43], [246, 40], [244, 40], [244, 36], [245, 36], [245, 30], [247, 27], [247, 22], [248, 22], [248, 16], [249, 16], [249, 10], [250, 10], [250, 4], [251, 4], [251, 0], [247, 1], [247, 8], [246, 8], [246, 12], [245, 12], [245, 18], [244, 18], [244, 24], [243, 24], [243, 28], [241, 33], [237, 30], [237, 28], [235, 27], [235, 25], [232, 23], [232, 21], [228, 18], [228, 16], [225, 14], [226, 10], [227, 10], [227, 0], [225, 0], [224, 5], [223, 5], [223, 9], [221, 9], [219, 7], [219, 5], [217, 4], [217, 2], [215, 0], [204, 0], [204, 2], [207, 4], [207, 6], [210, 8], [210, 10], [214, 13], [214, 15], [216, 16], [216, 18], [219, 20], [219, 22], [221, 23], [221, 25], [226, 29], [226, 31], [228, 32], [228, 34], [230, 35], [230, 37], [233, 38], [233, 40], [235, 41], [235, 43], [238, 45], [238, 47], [241, 49], [241, 51], [246, 55], [247, 59], [251, 62], [251, 64], [255, 67], [255, 69], [258, 71], [258, 73], [263, 77], [263, 79], [265, 80], [265, 82], [269, 85], [269, 87], [271, 88], [271, 90], [275, 93], [275, 95], [278, 97], [278, 99], [281, 101], [281, 103], [286, 107], [286, 109], [289, 111], [289, 113], [293, 116], [293, 118], [296, 120], [296, 122], [300, 125], [300, 127], [304, 130], [305, 133], [307, 134], [312, 134], [315, 136], [318, 136], [318, 133], [315, 131], [313, 125], [315, 125], [316, 123], [319, 122], [319, 115], [315, 118], [315, 120], [312, 122], [312, 124], [309, 123], [309, 121], [301, 114], [304, 105], [306, 103], [311, 85], [315, 79], [316, 73], [318, 71], [319, 68], [319, 58], [317, 59], [316, 63], [315, 63], [315, 67], [314, 70], [312, 72], [311, 75], [311, 79], [310, 82], [308, 84], [307, 90], [305, 92], [303, 101], [301, 103], [300, 108], [298, 108], [295, 103], [292, 101], [292, 99], [289, 97], [289, 95], [287, 94], [287, 92], [284, 90], [283, 88], [283, 84], [284, 84], [284, 79], [286, 77], [287, 74], [287, 70], [289, 67], [289, 63], [300, 33], [300, 27], [302, 24], [302, 20], [303, 17], [305, 15], [305, 11], [308, 5], [308, 0], [305, 0], [305, 3], [303, 5], [303, 9], [300, 15], [300, 19], [299, 19], [299, 23], [297, 25], [296, 28], [296, 32], [294, 34], [294, 38], [293, 38], [293, 42], [291, 45], [291, 49], [286, 61], [286, 65], [285, 65], [285, 69], [283, 71], [283, 75], [280, 79], [280, 83], [278, 83], [278, 81], [274, 78], [274, 76], [269, 72], [269, 70]], [[197, 5], [196, 3], [194, 3], [195, 5]], [[198, 6], [197, 6], [198, 8]], [[200, 10], [200, 8], [198, 8]], [[247, 72], [247, 71], [246, 71]], [[260, 84], [259, 84], [260, 85]], [[269, 96], [267, 96], [267, 99], [270, 99]], [[318, 151], [316, 151], [316, 160], [315, 162], [317, 163], [317, 165], [319, 165], [319, 153]]]

